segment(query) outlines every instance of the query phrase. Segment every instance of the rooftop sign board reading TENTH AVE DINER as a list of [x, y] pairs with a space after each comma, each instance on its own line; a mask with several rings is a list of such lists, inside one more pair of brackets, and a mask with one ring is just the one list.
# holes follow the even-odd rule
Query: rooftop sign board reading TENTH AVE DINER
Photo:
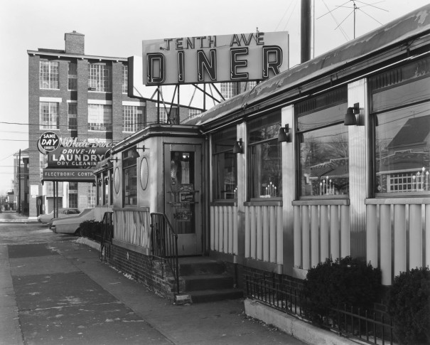
[[286, 32], [143, 41], [144, 85], [264, 80], [288, 69]]

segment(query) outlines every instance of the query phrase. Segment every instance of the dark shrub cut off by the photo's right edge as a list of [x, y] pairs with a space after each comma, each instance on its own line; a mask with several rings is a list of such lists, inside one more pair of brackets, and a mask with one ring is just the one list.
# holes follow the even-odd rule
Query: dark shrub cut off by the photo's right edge
[[394, 334], [402, 344], [430, 344], [429, 267], [402, 272], [387, 294]]

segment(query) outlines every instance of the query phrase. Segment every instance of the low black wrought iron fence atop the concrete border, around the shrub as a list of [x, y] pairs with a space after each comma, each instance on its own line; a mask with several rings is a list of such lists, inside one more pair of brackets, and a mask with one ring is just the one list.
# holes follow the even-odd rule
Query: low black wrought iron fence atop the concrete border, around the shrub
[[[306, 301], [301, 290], [287, 286], [281, 275], [246, 276], [247, 297], [301, 319], [306, 317]], [[392, 321], [386, 312], [360, 308], [331, 308], [322, 316], [321, 327], [368, 344], [393, 344]]]

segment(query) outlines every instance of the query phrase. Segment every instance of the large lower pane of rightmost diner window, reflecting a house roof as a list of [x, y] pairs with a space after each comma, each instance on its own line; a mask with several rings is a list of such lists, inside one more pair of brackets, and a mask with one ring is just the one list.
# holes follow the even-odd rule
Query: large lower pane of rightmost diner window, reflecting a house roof
[[375, 192], [430, 191], [430, 102], [376, 116]]

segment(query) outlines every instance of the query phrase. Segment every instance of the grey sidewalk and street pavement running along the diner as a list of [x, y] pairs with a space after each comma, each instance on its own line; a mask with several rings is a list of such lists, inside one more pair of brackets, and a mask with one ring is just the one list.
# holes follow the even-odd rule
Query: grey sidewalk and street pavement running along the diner
[[247, 317], [243, 299], [172, 304], [77, 238], [17, 218], [0, 219], [1, 345], [303, 344]]

